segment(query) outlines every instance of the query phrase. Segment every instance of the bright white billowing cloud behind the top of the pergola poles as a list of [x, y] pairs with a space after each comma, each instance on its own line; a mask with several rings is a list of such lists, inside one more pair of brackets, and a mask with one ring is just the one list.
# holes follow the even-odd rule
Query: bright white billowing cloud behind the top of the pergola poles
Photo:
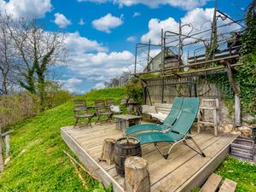
[[[196, 8], [189, 12], [181, 18], [182, 24], [190, 24], [193, 26], [193, 32], [199, 32], [201, 30], [211, 28], [211, 20], [213, 16], [213, 9], [200, 9]], [[230, 23], [230, 20], [220, 20], [218, 19], [218, 26]], [[160, 33], [161, 29], [165, 31], [178, 32], [178, 21], [174, 20], [172, 17], [167, 18], [166, 20], [151, 19], [148, 22], [148, 32], [143, 34], [141, 41], [143, 43], [148, 43], [148, 40], [151, 39], [151, 43], [160, 44]], [[239, 29], [240, 26], [233, 24], [230, 26], [218, 28], [218, 33], [221, 32], [230, 32], [230, 30]], [[182, 28], [183, 34], [188, 34], [191, 31], [191, 27], [184, 26]], [[210, 32], [202, 33], [201, 35], [196, 36], [197, 38], [208, 38]], [[171, 39], [169, 39], [171, 40]], [[192, 39], [188, 39], [191, 41]], [[187, 40], [187, 41], [188, 41]]]

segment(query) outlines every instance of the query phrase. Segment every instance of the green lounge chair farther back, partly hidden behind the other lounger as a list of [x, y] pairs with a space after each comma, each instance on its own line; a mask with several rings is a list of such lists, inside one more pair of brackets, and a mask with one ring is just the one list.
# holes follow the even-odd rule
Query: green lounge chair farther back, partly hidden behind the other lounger
[[143, 124], [131, 126], [125, 130], [125, 135], [131, 135], [139, 131], [163, 131], [170, 128], [177, 119], [177, 116], [180, 113], [182, 105], [183, 98], [175, 97], [172, 103], [172, 109], [163, 122], [160, 122], [160, 124]]

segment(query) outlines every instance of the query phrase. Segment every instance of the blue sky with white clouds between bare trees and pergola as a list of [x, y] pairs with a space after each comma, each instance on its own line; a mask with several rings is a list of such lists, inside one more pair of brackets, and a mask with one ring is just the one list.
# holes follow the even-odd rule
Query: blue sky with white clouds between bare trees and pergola
[[[222, 0], [218, 9], [241, 19], [248, 3]], [[67, 33], [71, 61], [55, 80], [79, 94], [132, 70], [135, 45], [148, 38], [158, 44], [160, 27], [175, 31], [180, 19], [201, 26], [212, 18], [213, 7], [211, 0], [0, 0], [0, 10], [36, 15], [45, 30]]]

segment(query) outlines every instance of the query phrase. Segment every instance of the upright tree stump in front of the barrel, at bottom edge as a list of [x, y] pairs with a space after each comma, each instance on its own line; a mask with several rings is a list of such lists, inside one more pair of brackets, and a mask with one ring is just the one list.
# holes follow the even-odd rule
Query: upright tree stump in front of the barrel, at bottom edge
[[137, 156], [125, 160], [125, 192], [150, 192], [147, 160]]

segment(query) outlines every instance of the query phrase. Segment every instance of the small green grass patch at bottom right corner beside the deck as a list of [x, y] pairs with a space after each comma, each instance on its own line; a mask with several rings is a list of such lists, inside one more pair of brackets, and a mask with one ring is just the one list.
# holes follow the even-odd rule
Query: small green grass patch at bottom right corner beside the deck
[[256, 166], [252, 163], [242, 162], [229, 156], [215, 173], [235, 181], [236, 191], [256, 191]]

